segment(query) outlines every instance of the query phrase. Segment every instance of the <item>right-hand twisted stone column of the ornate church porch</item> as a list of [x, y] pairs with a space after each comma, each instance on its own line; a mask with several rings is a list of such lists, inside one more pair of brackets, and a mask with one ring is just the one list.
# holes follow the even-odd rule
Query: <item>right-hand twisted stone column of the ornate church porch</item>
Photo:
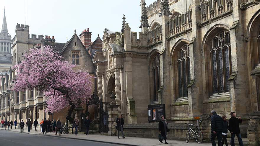
[[118, 114], [121, 114], [121, 109], [120, 109], [120, 105], [121, 105], [121, 99], [120, 99], [120, 73], [119, 73], [119, 70], [116, 70], [115, 71], [115, 92], [116, 92], [116, 105], [119, 105], [117, 110], [118, 110]]

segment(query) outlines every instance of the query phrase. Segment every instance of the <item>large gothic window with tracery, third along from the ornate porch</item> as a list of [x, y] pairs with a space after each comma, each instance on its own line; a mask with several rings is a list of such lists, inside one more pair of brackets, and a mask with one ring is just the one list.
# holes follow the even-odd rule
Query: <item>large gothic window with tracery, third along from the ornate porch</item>
[[230, 77], [230, 34], [227, 31], [219, 32], [211, 42], [211, 69], [212, 93], [229, 91], [228, 78]]

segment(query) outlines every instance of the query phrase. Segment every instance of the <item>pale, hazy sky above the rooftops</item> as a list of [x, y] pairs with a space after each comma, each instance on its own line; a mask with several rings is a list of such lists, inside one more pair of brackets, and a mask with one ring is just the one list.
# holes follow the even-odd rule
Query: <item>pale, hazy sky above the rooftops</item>
[[[146, 0], [146, 6], [154, 1]], [[54, 36], [55, 42], [65, 43], [66, 37], [71, 39], [74, 29], [79, 35], [89, 28], [93, 42], [98, 34], [102, 39], [105, 28], [121, 32], [123, 15], [132, 32], [141, 32], [140, 2], [141, 0], [0, 0], [0, 24], [2, 27], [5, 8], [7, 28], [12, 38], [17, 23], [26, 23], [30, 26], [30, 37], [31, 34], [37, 35], [37, 38], [38, 35]]]

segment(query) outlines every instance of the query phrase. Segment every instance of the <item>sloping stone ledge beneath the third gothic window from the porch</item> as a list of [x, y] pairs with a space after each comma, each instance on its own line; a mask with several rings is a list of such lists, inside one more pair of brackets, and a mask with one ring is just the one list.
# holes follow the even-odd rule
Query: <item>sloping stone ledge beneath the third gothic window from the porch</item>
[[212, 102], [225, 102], [230, 101], [230, 93], [215, 93], [212, 94], [207, 101], [204, 101], [203, 103], [212, 103]]

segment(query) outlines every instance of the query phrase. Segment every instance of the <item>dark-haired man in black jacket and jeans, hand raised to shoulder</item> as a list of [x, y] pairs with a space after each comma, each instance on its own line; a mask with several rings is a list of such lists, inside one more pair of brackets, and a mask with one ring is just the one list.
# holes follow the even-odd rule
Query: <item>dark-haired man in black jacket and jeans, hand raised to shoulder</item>
[[230, 133], [231, 133], [231, 140], [230, 140], [230, 145], [231, 146], [235, 146], [235, 135], [238, 137], [238, 142], [240, 146], [243, 146], [243, 141], [241, 138], [241, 133], [240, 133], [240, 129], [239, 129], [239, 123], [242, 123], [242, 119], [239, 116], [238, 118], [236, 118], [236, 114], [234, 111], [232, 111], [230, 113], [231, 118], [228, 120], [228, 124], [229, 124], [229, 129], [230, 129]]

